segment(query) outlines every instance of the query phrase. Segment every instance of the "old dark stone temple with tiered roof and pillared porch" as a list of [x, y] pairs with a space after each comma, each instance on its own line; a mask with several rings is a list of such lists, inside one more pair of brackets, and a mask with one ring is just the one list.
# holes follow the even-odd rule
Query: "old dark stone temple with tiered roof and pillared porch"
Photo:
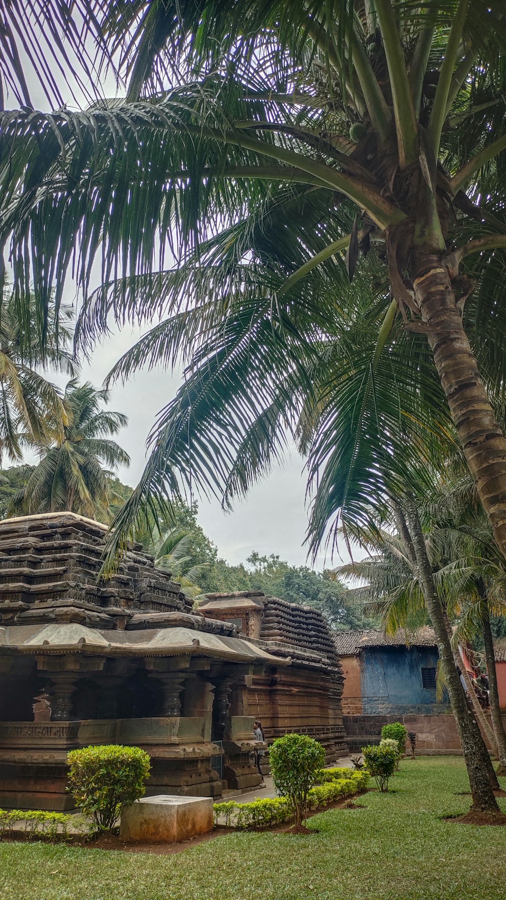
[[260, 593], [193, 609], [134, 545], [98, 581], [106, 528], [73, 513], [0, 522], [0, 806], [67, 809], [67, 752], [151, 757], [148, 794], [255, 788], [267, 742], [311, 734], [347, 752], [342, 671], [321, 615]]

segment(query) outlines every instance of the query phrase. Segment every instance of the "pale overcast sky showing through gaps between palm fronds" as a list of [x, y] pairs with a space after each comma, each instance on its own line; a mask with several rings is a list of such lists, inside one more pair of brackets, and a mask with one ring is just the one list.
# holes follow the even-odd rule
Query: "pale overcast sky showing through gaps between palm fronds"
[[[33, 102], [41, 109], [48, 109], [48, 102], [35, 79], [28, 80]], [[117, 93], [113, 78], [108, 78], [102, 88], [106, 96]], [[63, 86], [62, 93], [65, 93]], [[68, 105], [72, 108], [77, 106], [70, 91]], [[75, 286], [68, 284], [65, 300], [72, 302], [75, 299]], [[96, 347], [90, 363], [82, 366], [82, 380], [101, 385], [115, 361], [139, 338], [139, 334], [139, 331], [132, 332], [128, 328], [106, 338], [103, 346]], [[62, 379], [58, 381], [64, 383]], [[178, 377], [158, 370], [138, 374], [125, 387], [120, 384], [113, 386], [110, 409], [129, 417], [128, 428], [118, 436], [119, 443], [131, 456], [130, 469], [118, 472], [122, 482], [132, 486], [136, 484], [145, 464], [145, 442], [149, 430], [158, 411], [174, 397], [179, 383]], [[308, 518], [303, 466], [303, 459], [294, 448], [285, 465], [276, 465], [264, 482], [249, 491], [246, 500], [236, 502], [231, 513], [221, 510], [219, 500], [195, 498], [199, 503], [198, 518], [203, 530], [218, 545], [219, 553], [228, 562], [243, 562], [253, 550], [257, 550], [259, 554], [279, 554], [291, 564], [306, 563], [303, 543]], [[343, 559], [348, 560], [344, 546], [342, 554]], [[320, 554], [317, 567], [322, 568], [324, 564], [330, 567], [330, 558], [325, 561], [324, 555]], [[335, 558], [334, 564], [339, 564], [339, 558]]]

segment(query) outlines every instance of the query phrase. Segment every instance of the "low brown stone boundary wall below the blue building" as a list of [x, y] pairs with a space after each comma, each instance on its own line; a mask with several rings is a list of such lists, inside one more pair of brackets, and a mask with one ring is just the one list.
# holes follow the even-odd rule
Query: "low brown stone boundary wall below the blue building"
[[[502, 716], [506, 725], [506, 716]], [[489, 716], [490, 721], [490, 716]], [[379, 743], [383, 725], [402, 722], [416, 734], [416, 752], [422, 755], [461, 753], [454, 716], [343, 716], [350, 753], [370, 743]], [[491, 722], [492, 727], [492, 722]], [[490, 749], [490, 748], [489, 748]]]

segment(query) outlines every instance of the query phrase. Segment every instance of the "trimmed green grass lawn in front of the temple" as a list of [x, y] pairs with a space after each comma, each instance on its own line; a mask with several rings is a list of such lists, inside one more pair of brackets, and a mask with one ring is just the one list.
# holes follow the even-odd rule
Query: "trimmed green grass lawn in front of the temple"
[[0, 843], [0, 897], [506, 900], [506, 829], [441, 820], [470, 806], [461, 759], [403, 761], [391, 786], [314, 816], [319, 834], [228, 833], [172, 856]]

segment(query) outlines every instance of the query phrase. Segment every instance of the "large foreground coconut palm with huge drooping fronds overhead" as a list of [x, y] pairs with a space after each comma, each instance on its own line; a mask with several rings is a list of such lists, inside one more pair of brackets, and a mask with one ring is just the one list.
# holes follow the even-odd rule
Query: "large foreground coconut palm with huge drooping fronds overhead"
[[[228, 497], [265, 471], [311, 385], [306, 345], [346, 320], [366, 274], [383, 323], [371, 376], [399, 320], [428, 345], [506, 553], [506, 441], [483, 384], [505, 358], [501, 0], [130, 0], [102, 31], [124, 98], [2, 116], [0, 237], [20, 295], [32, 275], [42, 335], [77, 242], [85, 345], [111, 311], [162, 313], [118, 371], [190, 364], [116, 535], [179, 476]], [[331, 516], [342, 497], [327, 458]]]

